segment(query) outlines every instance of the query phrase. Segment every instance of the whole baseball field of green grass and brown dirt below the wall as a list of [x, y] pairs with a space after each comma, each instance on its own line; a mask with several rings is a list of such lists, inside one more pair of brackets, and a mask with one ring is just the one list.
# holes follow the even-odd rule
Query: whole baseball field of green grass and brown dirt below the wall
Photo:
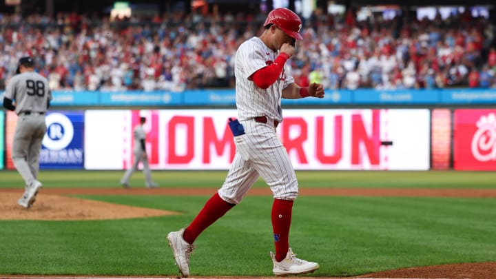
[[[41, 171], [30, 209], [0, 172], [0, 278], [178, 276], [165, 236], [191, 222], [225, 171]], [[319, 278], [496, 278], [496, 172], [297, 172], [290, 245]], [[191, 278], [270, 277], [263, 180], [197, 239]]]

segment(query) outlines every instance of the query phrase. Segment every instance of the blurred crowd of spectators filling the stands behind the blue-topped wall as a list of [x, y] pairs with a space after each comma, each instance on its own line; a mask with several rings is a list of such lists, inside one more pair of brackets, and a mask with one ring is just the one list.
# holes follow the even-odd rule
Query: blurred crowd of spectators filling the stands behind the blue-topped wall
[[[52, 90], [234, 87], [234, 54], [265, 14], [167, 13], [110, 21], [83, 14], [0, 15], [0, 81], [32, 56]], [[459, 14], [356, 21], [316, 10], [290, 61], [296, 82], [329, 89], [496, 87], [495, 26]], [[3, 87], [3, 85], [0, 86]]]

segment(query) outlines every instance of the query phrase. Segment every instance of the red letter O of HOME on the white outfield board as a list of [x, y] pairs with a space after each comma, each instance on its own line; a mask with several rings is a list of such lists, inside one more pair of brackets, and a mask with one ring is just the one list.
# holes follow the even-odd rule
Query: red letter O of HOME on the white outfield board
[[[187, 127], [187, 141], [186, 141], [186, 154], [176, 154], [176, 126], [185, 125]], [[186, 164], [192, 161], [194, 156], [194, 117], [187, 116], [174, 116], [169, 122], [169, 130], [167, 132], [169, 137], [169, 161], [171, 164]]]

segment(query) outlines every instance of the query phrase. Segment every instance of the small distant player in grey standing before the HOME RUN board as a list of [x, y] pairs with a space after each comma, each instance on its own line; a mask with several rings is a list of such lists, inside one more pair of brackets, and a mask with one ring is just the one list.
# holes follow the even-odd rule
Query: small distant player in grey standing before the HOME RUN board
[[148, 156], [146, 153], [146, 132], [145, 132], [145, 122], [146, 118], [145, 117], [140, 117], [140, 124], [136, 125], [134, 127], [133, 131], [133, 136], [134, 136], [134, 149], [133, 149], [133, 154], [134, 154], [134, 163], [130, 169], [127, 169], [125, 172], [123, 178], [121, 179], [121, 185], [125, 188], [129, 188], [129, 180], [133, 172], [138, 169], [138, 164], [141, 162], [143, 163], [143, 174], [145, 174], [145, 178], [147, 180], [146, 182], [146, 187], [147, 188], [156, 188], [158, 185], [156, 185], [152, 181], [152, 172], [149, 169], [148, 165]]

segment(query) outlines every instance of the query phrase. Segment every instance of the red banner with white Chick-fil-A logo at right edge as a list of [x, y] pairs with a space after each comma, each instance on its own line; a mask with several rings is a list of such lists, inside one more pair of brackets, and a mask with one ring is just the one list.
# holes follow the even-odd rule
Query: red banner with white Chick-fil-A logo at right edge
[[455, 110], [456, 170], [496, 170], [496, 110]]

